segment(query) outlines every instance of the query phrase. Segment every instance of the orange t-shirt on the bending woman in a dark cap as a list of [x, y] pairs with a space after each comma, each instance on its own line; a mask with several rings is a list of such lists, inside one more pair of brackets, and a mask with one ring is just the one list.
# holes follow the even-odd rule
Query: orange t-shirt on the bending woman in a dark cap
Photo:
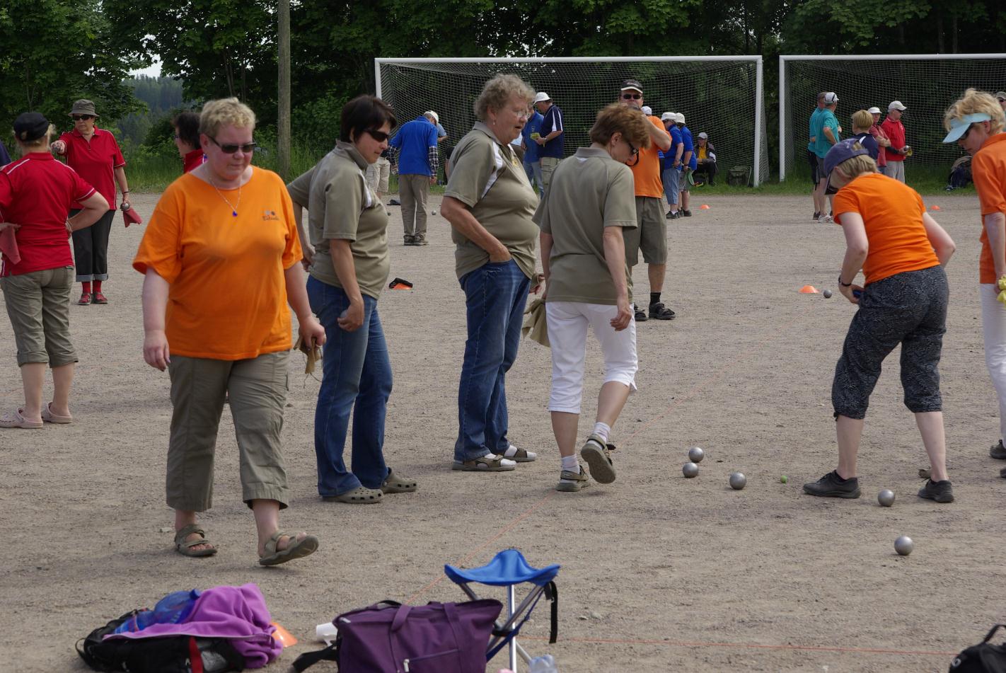
[[879, 173], [860, 175], [838, 190], [833, 209], [838, 223], [847, 212], [863, 218], [869, 244], [865, 285], [940, 265], [923, 223], [926, 204], [911, 187]]

